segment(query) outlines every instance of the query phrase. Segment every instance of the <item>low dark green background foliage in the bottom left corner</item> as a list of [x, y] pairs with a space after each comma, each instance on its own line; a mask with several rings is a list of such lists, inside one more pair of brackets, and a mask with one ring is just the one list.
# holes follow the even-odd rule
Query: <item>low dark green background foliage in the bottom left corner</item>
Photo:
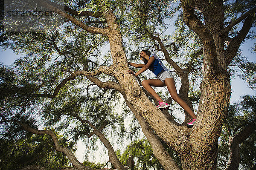
[[[61, 145], [67, 146], [67, 140], [61, 139]], [[57, 152], [47, 135], [31, 135], [16, 140], [1, 139], [1, 170], [18, 170], [30, 165], [57, 170], [68, 165], [68, 159], [63, 153]]]

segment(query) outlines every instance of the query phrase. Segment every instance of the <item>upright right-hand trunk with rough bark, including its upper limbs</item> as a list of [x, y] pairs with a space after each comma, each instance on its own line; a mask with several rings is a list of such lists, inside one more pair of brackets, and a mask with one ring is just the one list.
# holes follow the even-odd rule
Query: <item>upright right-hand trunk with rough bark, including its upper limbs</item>
[[[227, 115], [230, 103], [230, 75], [227, 66], [235, 56], [241, 40], [247, 35], [253, 18], [248, 16], [241, 32], [226, 51], [224, 41], [224, 10], [221, 1], [197, 1], [193, 7], [182, 3], [183, 17], [186, 25], [192, 29], [203, 42], [203, 81], [201, 83], [201, 98], [198, 107], [198, 120], [192, 128], [188, 148], [190, 156], [182, 159], [184, 169], [215, 170], [217, 158], [217, 144], [221, 126]], [[204, 24], [198, 20], [194, 10], [203, 11]], [[241, 21], [241, 20], [240, 20]], [[233, 44], [232, 44], [233, 43]], [[236, 44], [231, 47], [232, 45]], [[230, 51], [232, 50], [232, 52]], [[231, 57], [232, 56], [232, 57]], [[234, 142], [236, 144], [236, 142]], [[238, 151], [238, 150], [236, 150]], [[192, 163], [194, 162], [194, 164]]]

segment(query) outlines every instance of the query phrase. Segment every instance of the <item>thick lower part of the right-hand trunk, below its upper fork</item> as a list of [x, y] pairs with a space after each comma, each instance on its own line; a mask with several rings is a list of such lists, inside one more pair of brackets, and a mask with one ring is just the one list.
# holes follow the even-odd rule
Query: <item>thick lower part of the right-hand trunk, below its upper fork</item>
[[[209, 81], [210, 80], [210, 81]], [[208, 78], [202, 83], [202, 94], [198, 109], [198, 120], [194, 125], [189, 141], [189, 155], [183, 165], [189, 170], [217, 169], [218, 137], [227, 114], [230, 101], [230, 81], [225, 76]]]

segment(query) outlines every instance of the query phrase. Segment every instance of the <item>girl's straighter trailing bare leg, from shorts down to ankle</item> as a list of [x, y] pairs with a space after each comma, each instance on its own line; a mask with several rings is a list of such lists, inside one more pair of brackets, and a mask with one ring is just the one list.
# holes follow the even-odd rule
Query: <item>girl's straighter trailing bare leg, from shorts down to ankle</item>
[[192, 118], [196, 118], [195, 113], [192, 111], [192, 109], [186, 104], [185, 101], [183, 101], [177, 94], [177, 89], [175, 87], [174, 79], [173, 78], [166, 78], [164, 83], [167, 86], [167, 89], [174, 101], [176, 101], [186, 112], [189, 113], [189, 115]]

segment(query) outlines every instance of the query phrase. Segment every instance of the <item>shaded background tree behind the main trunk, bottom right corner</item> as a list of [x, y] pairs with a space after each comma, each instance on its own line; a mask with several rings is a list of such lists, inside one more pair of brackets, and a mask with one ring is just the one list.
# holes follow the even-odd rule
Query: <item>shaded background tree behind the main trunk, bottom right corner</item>
[[254, 104], [255, 96], [244, 95], [241, 102], [230, 105], [219, 145], [220, 167], [226, 170], [238, 169], [239, 163], [244, 169], [255, 168]]

